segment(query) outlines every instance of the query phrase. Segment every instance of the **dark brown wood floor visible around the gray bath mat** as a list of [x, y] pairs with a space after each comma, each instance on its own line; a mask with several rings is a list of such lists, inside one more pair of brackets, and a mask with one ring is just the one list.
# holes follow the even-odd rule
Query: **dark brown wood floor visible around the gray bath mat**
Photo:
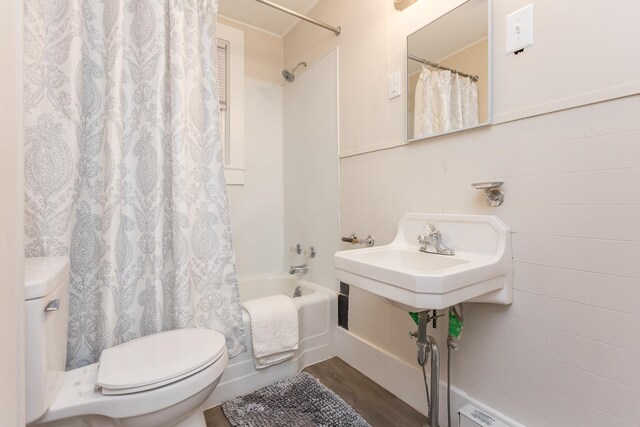
[[[422, 427], [427, 421], [424, 415], [337, 357], [305, 371], [342, 397], [373, 427]], [[231, 426], [219, 406], [204, 414], [207, 427]]]

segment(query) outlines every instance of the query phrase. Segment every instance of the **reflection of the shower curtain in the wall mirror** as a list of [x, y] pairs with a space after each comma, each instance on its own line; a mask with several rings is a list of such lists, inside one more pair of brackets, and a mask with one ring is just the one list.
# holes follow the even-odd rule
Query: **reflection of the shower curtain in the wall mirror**
[[414, 138], [426, 138], [478, 124], [478, 87], [448, 70], [422, 67], [416, 85]]

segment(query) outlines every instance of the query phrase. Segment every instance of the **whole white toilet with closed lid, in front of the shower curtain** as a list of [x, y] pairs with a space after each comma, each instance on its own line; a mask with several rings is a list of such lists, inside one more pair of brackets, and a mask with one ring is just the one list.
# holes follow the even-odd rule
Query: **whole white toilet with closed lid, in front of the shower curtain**
[[207, 329], [149, 335], [64, 370], [69, 259], [25, 260], [27, 423], [33, 426], [205, 427], [202, 403], [227, 366]]

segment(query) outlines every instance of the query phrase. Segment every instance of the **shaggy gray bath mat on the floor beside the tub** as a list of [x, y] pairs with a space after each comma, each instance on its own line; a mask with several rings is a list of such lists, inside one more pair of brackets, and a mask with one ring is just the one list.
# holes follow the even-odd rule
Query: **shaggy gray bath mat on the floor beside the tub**
[[306, 372], [222, 404], [233, 427], [371, 427]]

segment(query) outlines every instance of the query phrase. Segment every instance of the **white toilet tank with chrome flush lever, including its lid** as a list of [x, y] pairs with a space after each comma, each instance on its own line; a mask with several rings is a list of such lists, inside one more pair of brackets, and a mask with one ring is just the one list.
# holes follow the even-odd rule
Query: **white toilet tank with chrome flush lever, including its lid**
[[25, 370], [27, 423], [40, 418], [63, 382], [69, 320], [69, 258], [26, 258]]

